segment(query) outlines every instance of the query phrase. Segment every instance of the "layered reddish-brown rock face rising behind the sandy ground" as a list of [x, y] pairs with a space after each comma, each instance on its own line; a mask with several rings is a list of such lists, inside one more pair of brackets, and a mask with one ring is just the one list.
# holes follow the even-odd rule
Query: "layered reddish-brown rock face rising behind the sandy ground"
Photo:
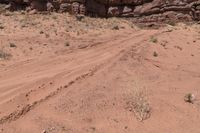
[[200, 0], [3, 0], [10, 10], [36, 9], [101, 17], [200, 20]]

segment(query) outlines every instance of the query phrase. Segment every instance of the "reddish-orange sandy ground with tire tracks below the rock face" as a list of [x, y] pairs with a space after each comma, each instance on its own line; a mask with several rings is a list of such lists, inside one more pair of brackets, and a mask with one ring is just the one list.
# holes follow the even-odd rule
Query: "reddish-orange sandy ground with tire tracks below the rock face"
[[[200, 132], [198, 25], [144, 30], [65, 15], [28, 16], [23, 28], [23, 15], [1, 16], [0, 45], [12, 54], [0, 61], [1, 132]], [[138, 93], [151, 108], [142, 122], [130, 106]]]

